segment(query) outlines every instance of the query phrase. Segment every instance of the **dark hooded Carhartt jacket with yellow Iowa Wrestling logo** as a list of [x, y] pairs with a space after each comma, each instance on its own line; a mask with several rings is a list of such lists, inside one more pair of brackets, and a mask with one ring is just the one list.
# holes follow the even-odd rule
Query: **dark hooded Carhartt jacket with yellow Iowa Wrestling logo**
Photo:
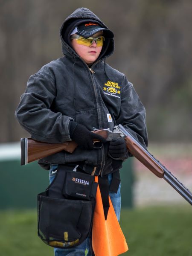
[[[20, 125], [34, 140], [48, 143], [70, 141], [69, 122], [93, 128], [123, 125], [140, 143], [147, 146], [145, 108], [125, 75], [105, 63], [114, 51], [114, 40], [107, 39], [92, 66], [70, 47], [68, 38], [84, 19], [108, 28], [93, 12], [79, 8], [61, 26], [64, 56], [43, 66], [27, 82], [25, 93], [15, 112]], [[111, 118], [110, 118], [111, 115]], [[105, 174], [121, 166], [122, 160], [108, 156], [108, 143], [100, 149], [77, 147], [73, 154], [61, 151], [39, 160], [45, 169], [50, 163], [84, 163], [98, 166]], [[128, 157], [128, 155], [126, 156]], [[107, 167], [106, 167], [107, 166]]]

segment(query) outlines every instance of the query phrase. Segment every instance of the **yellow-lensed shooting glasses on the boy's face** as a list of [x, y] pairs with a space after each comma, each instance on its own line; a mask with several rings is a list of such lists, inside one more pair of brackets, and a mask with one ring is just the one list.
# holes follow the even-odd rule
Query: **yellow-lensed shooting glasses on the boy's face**
[[104, 36], [98, 36], [96, 38], [94, 37], [89, 37], [89, 38], [84, 38], [80, 35], [71, 35], [70, 39], [76, 39], [77, 44], [85, 45], [90, 47], [91, 44], [93, 44], [93, 41], [96, 42], [97, 47], [103, 46], [103, 41], [105, 41]]

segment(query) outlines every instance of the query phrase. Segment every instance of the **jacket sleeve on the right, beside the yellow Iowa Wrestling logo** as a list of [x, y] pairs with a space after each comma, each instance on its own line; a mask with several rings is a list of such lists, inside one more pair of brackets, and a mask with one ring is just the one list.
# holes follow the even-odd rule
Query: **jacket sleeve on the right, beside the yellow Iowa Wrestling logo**
[[122, 91], [121, 108], [116, 124], [121, 124], [142, 145], [147, 147], [148, 134], [146, 128], [145, 108], [137, 95], [133, 84], [125, 79], [125, 87]]

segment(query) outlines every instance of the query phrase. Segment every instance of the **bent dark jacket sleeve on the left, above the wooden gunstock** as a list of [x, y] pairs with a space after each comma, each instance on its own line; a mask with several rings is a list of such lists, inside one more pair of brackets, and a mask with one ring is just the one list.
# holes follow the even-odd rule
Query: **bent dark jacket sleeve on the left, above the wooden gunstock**
[[73, 118], [51, 110], [55, 96], [55, 83], [50, 77], [36, 73], [29, 78], [15, 116], [34, 140], [49, 143], [71, 140], [68, 125]]

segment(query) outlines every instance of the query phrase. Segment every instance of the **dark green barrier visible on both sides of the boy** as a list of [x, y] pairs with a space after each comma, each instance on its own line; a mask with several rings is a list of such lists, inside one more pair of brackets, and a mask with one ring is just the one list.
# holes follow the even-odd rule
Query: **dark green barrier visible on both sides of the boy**
[[[49, 185], [49, 172], [37, 161], [20, 166], [19, 159], [1, 160], [0, 170], [0, 209], [36, 207], [37, 194]], [[133, 207], [131, 158], [123, 163], [121, 183], [122, 207]]]

